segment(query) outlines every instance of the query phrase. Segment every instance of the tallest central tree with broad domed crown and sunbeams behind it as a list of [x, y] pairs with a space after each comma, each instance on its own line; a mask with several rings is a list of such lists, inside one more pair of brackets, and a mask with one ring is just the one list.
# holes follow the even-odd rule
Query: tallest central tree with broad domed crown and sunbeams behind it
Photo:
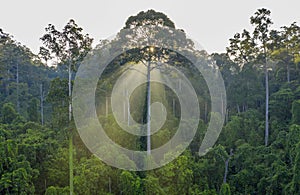
[[[144, 26], [145, 29], [141, 29], [139, 27]], [[131, 16], [127, 19], [124, 29], [133, 29], [136, 35], [129, 35], [132, 36], [132, 39], [135, 40], [137, 43], [144, 43], [142, 44], [142, 48], [133, 49], [132, 51], [124, 53], [123, 59], [126, 58], [126, 61], [134, 61], [134, 62], [141, 62], [143, 63], [146, 68], [146, 77], [147, 77], [147, 86], [146, 86], [146, 122], [147, 122], [147, 153], [151, 153], [151, 71], [154, 69], [162, 69], [164, 63], [174, 64], [174, 61], [180, 61], [182, 58], [179, 55], [174, 55], [174, 52], [171, 52], [165, 48], [156, 48], [154, 45], [156, 40], [157, 42], [163, 42], [166, 39], [159, 29], [159, 27], [166, 27], [165, 29], [169, 29], [173, 31], [174, 36], [178, 38], [178, 46], [179, 47], [187, 47], [193, 46], [191, 40], [185, 37], [185, 34], [182, 30], [175, 29], [175, 24], [161, 12], [156, 12], [154, 10], [148, 10], [146, 12], [142, 11], [138, 13], [136, 16]], [[135, 32], [136, 31], [136, 32]], [[126, 31], [125, 31], [126, 32]], [[182, 36], [179, 36], [182, 35]], [[124, 36], [124, 35], [121, 35]], [[181, 40], [179, 40], [179, 37]], [[146, 43], [145, 43], [146, 40]], [[149, 40], [152, 40], [149, 41]], [[149, 45], [150, 44], [150, 45]], [[143, 137], [141, 142], [143, 142]], [[143, 143], [142, 143], [143, 147]]]

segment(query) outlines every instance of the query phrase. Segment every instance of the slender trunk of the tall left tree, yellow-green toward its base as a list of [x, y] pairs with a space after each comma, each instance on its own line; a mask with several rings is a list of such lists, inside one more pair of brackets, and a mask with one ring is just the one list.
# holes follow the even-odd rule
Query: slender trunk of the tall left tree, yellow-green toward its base
[[71, 63], [69, 62], [68, 66], [69, 72], [69, 127], [70, 127], [70, 137], [69, 137], [69, 171], [70, 171], [70, 195], [74, 194], [73, 188], [73, 130], [71, 129], [71, 120], [72, 120], [72, 70], [71, 70]]

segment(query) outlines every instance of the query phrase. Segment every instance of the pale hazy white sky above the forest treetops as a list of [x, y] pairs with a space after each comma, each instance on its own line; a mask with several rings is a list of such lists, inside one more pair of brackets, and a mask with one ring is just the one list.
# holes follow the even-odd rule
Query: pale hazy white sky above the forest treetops
[[34, 53], [49, 23], [61, 30], [73, 18], [98, 41], [148, 9], [165, 13], [208, 52], [224, 52], [236, 32], [251, 30], [249, 18], [258, 8], [271, 10], [274, 28], [300, 23], [300, 0], [0, 0], [0, 6], [0, 28]]

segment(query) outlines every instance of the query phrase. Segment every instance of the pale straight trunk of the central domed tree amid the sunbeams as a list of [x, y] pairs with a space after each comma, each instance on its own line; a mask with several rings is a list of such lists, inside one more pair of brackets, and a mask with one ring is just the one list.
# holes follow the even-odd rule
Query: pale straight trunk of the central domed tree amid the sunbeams
[[147, 66], [147, 154], [151, 154], [151, 84], [150, 84], [150, 71], [151, 71], [151, 62], [148, 61]]

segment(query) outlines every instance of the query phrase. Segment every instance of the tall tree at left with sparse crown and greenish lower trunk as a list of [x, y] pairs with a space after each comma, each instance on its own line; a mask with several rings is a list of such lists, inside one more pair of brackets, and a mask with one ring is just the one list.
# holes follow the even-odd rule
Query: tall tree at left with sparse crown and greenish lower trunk
[[[72, 72], [76, 71], [79, 63], [91, 49], [93, 39], [88, 34], [82, 33], [73, 19], [71, 19], [62, 31], [56, 30], [55, 26], [49, 24], [46, 28], [46, 34], [41, 38], [46, 48], [41, 48], [40, 54], [44, 54], [44, 59], [49, 59], [49, 53], [52, 54], [58, 64], [68, 67], [68, 95], [69, 95], [69, 170], [70, 170], [70, 194], [73, 194], [73, 129], [71, 129], [72, 120]], [[48, 51], [47, 51], [48, 50]], [[51, 57], [51, 55], [50, 55]]]

